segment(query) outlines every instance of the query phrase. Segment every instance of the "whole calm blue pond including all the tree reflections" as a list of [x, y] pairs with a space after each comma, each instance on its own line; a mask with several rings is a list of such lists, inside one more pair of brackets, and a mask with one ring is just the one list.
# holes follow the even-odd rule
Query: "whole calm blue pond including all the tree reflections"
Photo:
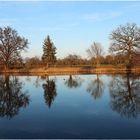
[[140, 138], [140, 78], [1, 75], [0, 138]]

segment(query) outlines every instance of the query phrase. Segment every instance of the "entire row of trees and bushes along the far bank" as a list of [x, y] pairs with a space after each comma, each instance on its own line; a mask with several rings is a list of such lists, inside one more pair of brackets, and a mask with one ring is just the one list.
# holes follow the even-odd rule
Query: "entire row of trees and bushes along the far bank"
[[41, 68], [65, 66], [113, 66], [131, 68], [140, 65], [140, 28], [135, 23], [120, 25], [110, 34], [108, 54], [104, 55], [103, 47], [93, 42], [87, 50], [88, 58], [69, 54], [57, 58], [57, 49], [50, 39], [44, 40], [42, 56], [23, 59], [21, 52], [28, 48], [28, 40], [18, 35], [11, 27], [0, 28], [0, 68]]

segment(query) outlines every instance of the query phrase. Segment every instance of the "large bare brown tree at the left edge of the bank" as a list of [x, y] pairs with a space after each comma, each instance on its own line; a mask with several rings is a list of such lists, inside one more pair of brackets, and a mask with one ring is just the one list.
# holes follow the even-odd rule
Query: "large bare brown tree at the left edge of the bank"
[[27, 48], [28, 40], [18, 35], [11, 27], [0, 28], [0, 60], [5, 70], [21, 60], [21, 51]]

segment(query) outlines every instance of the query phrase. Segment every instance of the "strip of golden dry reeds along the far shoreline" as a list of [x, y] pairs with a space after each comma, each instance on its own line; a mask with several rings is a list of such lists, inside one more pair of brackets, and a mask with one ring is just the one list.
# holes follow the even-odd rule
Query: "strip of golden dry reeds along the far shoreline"
[[33, 69], [10, 69], [0, 71], [1, 74], [26, 74], [26, 75], [68, 75], [68, 74], [140, 74], [140, 67], [127, 70], [126, 68], [87, 68], [87, 67], [65, 67], [65, 68], [33, 68]]

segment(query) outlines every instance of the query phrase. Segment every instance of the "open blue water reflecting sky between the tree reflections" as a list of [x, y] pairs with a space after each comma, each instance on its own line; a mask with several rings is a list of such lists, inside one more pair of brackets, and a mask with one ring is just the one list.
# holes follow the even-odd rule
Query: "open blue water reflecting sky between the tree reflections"
[[20, 80], [25, 83], [23, 90], [28, 90], [30, 95], [30, 103], [13, 119], [0, 118], [0, 137], [2, 135], [12, 138], [19, 135], [24, 138], [26, 135], [27, 138], [140, 137], [137, 131], [140, 129], [139, 117], [121, 118], [110, 108], [108, 85], [111, 76], [99, 76], [104, 83], [104, 89], [101, 98], [96, 100], [86, 91], [88, 83], [95, 80], [96, 75], [76, 76], [83, 79], [83, 83], [80, 87], [71, 89], [64, 84], [69, 76], [49, 77], [55, 79], [57, 91], [50, 109], [45, 103], [42, 88], [45, 80], [40, 80], [40, 87], [36, 88], [34, 84], [36, 76], [29, 77], [30, 81], [26, 80], [27, 77], [20, 77]]

